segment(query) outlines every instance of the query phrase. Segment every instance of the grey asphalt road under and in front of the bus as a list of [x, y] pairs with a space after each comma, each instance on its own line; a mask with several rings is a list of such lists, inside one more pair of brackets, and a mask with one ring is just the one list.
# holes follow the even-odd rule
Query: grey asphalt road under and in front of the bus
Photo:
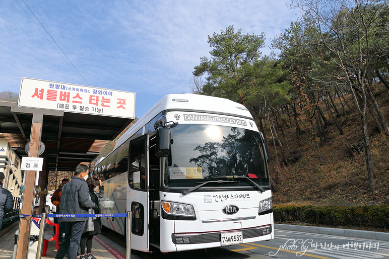
[[[116, 249], [125, 254], [125, 247]], [[202, 258], [389, 258], [389, 242], [335, 235], [275, 230], [275, 239], [208, 250], [154, 253], [137, 252], [132, 258], [202, 259]]]

